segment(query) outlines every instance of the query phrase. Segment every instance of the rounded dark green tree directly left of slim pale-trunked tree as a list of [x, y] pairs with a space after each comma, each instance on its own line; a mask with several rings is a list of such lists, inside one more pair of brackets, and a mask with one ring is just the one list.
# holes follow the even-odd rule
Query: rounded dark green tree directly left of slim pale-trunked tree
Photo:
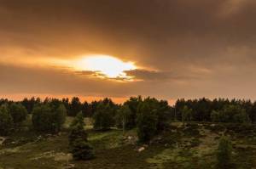
[[108, 130], [114, 125], [115, 108], [109, 103], [101, 102], [97, 105], [96, 112], [93, 115], [96, 130]]

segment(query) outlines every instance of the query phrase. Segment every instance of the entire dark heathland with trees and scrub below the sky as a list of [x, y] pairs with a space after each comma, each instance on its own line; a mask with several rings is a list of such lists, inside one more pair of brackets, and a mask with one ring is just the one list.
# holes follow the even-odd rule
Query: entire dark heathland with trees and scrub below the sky
[[[68, 159], [67, 164], [56, 160], [49, 166], [61, 164], [66, 168], [94, 167], [94, 161], [108, 164], [104, 158], [118, 165], [129, 154], [137, 157], [131, 159], [140, 168], [189, 168], [194, 163], [192, 168], [253, 167], [255, 115], [255, 103], [236, 99], [178, 99], [173, 106], [165, 100], [140, 96], [124, 104], [111, 99], [91, 103], [81, 103], [79, 98], [1, 99], [0, 158], [22, 154], [22, 149], [39, 154], [39, 144], [49, 144], [45, 155]], [[242, 163], [239, 155], [247, 156], [248, 161]], [[30, 158], [41, 161], [47, 157]], [[26, 162], [35, 165], [31, 159]], [[119, 168], [135, 167], [122, 161], [124, 166]], [[1, 162], [12, 166], [0, 160], [0, 168]], [[17, 161], [17, 166], [21, 163]]]

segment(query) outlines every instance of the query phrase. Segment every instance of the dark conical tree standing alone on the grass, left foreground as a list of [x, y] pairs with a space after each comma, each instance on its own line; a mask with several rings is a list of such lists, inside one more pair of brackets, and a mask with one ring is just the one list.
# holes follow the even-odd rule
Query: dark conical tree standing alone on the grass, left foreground
[[87, 132], [84, 130], [84, 116], [80, 112], [71, 124], [69, 135], [70, 151], [75, 160], [90, 160], [94, 152], [92, 146], [88, 143]]

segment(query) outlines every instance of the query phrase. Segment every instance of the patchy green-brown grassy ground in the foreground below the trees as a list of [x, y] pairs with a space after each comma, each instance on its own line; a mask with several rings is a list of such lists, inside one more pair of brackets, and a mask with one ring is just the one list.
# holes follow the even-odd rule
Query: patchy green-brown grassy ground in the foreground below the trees
[[24, 131], [13, 133], [0, 145], [0, 168], [214, 168], [215, 150], [222, 134], [230, 136], [233, 143], [233, 168], [256, 167], [255, 127], [172, 123], [168, 131], [148, 145], [137, 144], [135, 130], [123, 136], [117, 129], [96, 132], [90, 125], [86, 128], [96, 153], [91, 161], [72, 160], [67, 129], [56, 136]]

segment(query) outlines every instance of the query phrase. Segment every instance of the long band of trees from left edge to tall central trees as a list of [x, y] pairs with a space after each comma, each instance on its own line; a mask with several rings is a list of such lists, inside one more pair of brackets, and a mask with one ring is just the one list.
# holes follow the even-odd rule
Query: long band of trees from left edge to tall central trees
[[[119, 127], [129, 130], [137, 127], [138, 136], [142, 141], [149, 140], [154, 134], [167, 126], [172, 118], [172, 107], [165, 100], [131, 97], [124, 104], [115, 104], [112, 99], [102, 99], [91, 103], [81, 103], [79, 98], [69, 99], [23, 99], [14, 102], [8, 99], [0, 100], [0, 132], [9, 132], [14, 128], [17, 116], [22, 116], [19, 123], [26, 120], [27, 114], [32, 114], [32, 127], [38, 132], [59, 132], [66, 115], [93, 119], [95, 130], [108, 130]], [[16, 110], [12, 107], [17, 107]], [[14, 113], [16, 112], [16, 113]], [[24, 115], [20, 115], [24, 112]], [[20, 118], [20, 117], [19, 117]], [[7, 122], [11, 121], [11, 122]], [[9, 125], [6, 127], [5, 125]]]

